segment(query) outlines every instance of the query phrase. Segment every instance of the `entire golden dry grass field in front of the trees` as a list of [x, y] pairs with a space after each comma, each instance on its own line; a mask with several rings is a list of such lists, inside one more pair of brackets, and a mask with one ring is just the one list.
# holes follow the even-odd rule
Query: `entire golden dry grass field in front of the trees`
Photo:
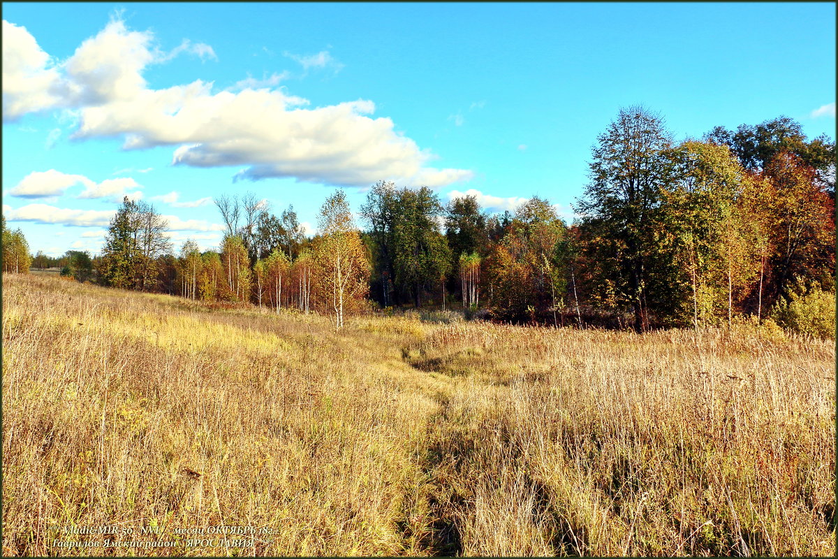
[[832, 342], [3, 276], [5, 556], [831, 556], [834, 473]]

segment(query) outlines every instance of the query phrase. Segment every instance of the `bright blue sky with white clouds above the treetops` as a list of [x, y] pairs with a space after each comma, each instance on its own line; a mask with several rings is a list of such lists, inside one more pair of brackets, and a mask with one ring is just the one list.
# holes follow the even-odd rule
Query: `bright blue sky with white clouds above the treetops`
[[128, 195], [212, 250], [215, 197], [313, 234], [391, 180], [569, 223], [638, 104], [676, 141], [781, 115], [834, 138], [835, 3], [3, 3], [3, 215], [95, 255]]

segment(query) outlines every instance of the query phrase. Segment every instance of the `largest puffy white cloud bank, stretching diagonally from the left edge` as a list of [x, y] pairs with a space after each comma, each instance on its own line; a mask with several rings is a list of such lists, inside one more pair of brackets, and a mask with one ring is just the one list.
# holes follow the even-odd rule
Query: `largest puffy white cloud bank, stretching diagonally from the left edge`
[[[85, 40], [59, 72], [24, 28], [4, 23], [4, 32], [7, 26], [17, 39], [9, 39], [14, 60], [7, 69], [3, 35], [4, 118], [75, 109], [72, 138], [123, 137], [125, 149], [172, 146], [173, 164], [244, 167], [236, 179], [360, 187], [385, 179], [438, 187], [473, 177], [466, 169], [427, 166], [433, 154], [397, 132], [390, 118], [371, 116], [372, 101], [304, 108], [308, 100], [271, 89], [282, 75], [266, 83], [244, 80], [238, 92], [214, 93], [204, 80], [148, 89], [142, 71], [171, 53], [160, 54], [150, 32], [131, 31], [118, 20]], [[328, 51], [291, 56], [304, 68], [339, 65]]]

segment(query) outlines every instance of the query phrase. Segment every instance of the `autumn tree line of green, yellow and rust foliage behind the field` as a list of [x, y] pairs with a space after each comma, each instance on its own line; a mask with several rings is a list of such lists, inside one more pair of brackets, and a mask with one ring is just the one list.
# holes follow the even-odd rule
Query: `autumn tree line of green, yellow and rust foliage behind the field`
[[[153, 207], [125, 199], [102, 256], [68, 253], [66, 267], [111, 287], [328, 313], [337, 326], [364, 309], [456, 306], [645, 331], [760, 320], [834, 292], [828, 137], [779, 117], [675, 142], [661, 116], [633, 106], [597, 137], [589, 171], [571, 225], [537, 196], [489, 215], [473, 196], [443, 205], [431, 189], [380, 181], [360, 224], [343, 191], [330, 196], [312, 238], [291, 206], [277, 217], [253, 194], [222, 196], [219, 250], [186, 241], [178, 255]], [[8, 271], [5, 225], [3, 246]]]

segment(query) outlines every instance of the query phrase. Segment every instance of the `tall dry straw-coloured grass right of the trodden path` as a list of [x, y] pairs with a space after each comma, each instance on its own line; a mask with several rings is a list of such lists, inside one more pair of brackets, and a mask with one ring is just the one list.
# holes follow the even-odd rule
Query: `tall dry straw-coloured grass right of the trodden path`
[[835, 551], [832, 344], [463, 324], [413, 355], [456, 386], [438, 445], [464, 554]]

